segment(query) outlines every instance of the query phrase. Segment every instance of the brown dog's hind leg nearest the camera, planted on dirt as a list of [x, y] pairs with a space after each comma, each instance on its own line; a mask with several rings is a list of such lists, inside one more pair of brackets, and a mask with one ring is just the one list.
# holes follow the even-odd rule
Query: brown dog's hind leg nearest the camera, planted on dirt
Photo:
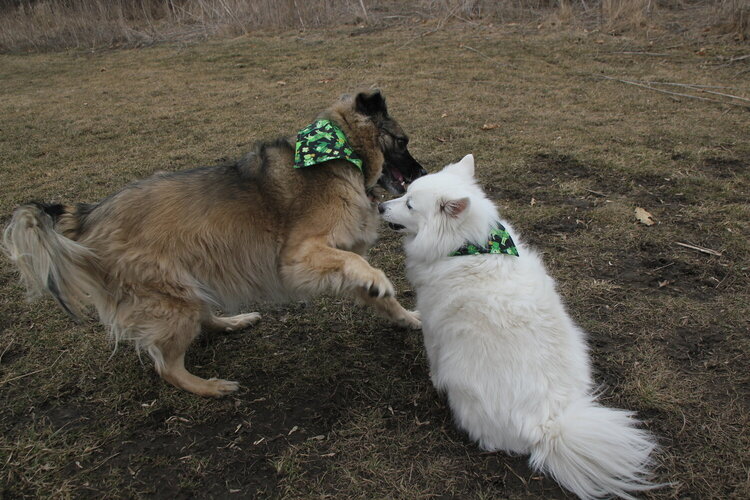
[[[187, 308], [171, 311], [166, 318], [160, 318], [154, 327], [151, 349], [156, 362], [156, 371], [170, 384], [198, 394], [199, 396], [219, 397], [239, 388], [237, 382], [221, 379], [196, 377], [185, 368], [185, 351], [200, 333], [199, 315], [190, 314]], [[179, 311], [179, 312], [178, 312]]]

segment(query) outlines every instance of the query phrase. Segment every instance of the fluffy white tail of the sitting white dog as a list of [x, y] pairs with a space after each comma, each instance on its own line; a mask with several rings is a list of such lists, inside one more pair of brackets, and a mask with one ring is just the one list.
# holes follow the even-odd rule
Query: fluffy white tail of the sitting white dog
[[648, 481], [653, 436], [637, 428], [633, 412], [578, 400], [547, 424], [529, 459], [582, 499], [619, 496], [661, 485]]

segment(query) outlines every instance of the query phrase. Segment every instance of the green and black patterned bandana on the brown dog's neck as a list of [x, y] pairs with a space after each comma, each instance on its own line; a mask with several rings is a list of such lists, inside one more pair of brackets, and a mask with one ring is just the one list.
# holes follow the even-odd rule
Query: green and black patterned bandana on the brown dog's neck
[[349, 145], [344, 132], [331, 120], [318, 120], [299, 131], [294, 147], [294, 168], [330, 160], [348, 160], [362, 170], [362, 159]]

